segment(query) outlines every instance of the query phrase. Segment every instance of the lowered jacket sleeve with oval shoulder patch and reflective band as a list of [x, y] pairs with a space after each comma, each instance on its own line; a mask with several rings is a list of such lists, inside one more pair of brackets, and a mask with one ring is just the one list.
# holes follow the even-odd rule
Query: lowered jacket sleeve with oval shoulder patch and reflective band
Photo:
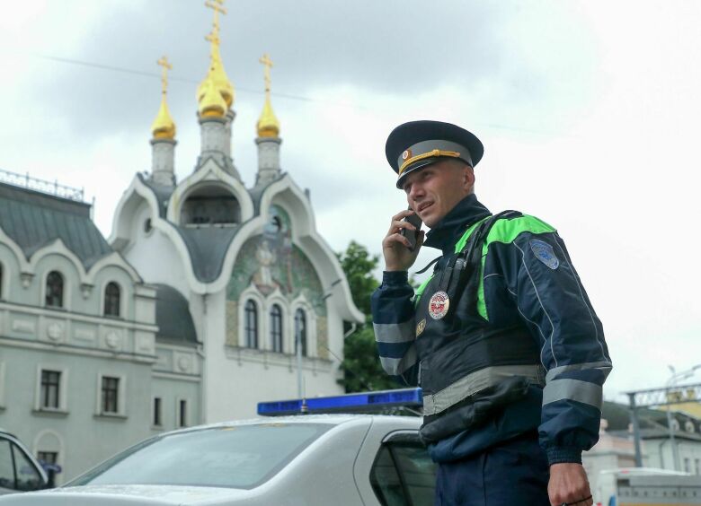
[[599, 440], [611, 360], [601, 322], [556, 231], [522, 231], [500, 249], [504, 281], [546, 369], [540, 444], [549, 463], [580, 462]]

